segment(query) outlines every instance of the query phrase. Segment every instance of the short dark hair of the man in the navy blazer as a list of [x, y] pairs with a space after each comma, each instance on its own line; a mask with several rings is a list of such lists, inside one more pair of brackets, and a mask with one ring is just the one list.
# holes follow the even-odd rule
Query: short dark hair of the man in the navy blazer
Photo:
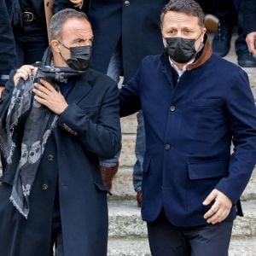
[[171, 0], [169, 3], [166, 3], [166, 6], [160, 15], [160, 28], [163, 26], [163, 20], [166, 13], [170, 11], [195, 16], [199, 20], [199, 25], [205, 26], [205, 14], [199, 3], [194, 0]]

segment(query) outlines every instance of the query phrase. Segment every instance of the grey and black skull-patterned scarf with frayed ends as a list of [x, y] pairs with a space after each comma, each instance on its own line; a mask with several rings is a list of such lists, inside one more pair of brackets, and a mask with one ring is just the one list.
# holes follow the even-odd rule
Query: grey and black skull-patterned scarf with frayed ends
[[[0, 147], [7, 160], [4, 172], [16, 169], [10, 201], [25, 218], [28, 217], [29, 195], [45, 144], [58, 119], [49, 108], [34, 100], [33, 83], [43, 78], [59, 90], [58, 82], [63, 83], [82, 73], [69, 67], [48, 66], [51, 58], [51, 51], [47, 49], [43, 66], [38, 67], [38, 72], [26, 81], [20, 79], [13, 90], [9, 107], [0, 114]], [[20, 128], [23, 133], [18, 139]]]

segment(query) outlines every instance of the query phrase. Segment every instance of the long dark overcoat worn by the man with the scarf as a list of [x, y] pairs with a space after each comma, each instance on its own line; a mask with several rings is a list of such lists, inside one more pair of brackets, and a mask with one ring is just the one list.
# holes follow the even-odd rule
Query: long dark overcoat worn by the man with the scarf
[[[7, 84], [0, 108], [9, 101], [12, 87]], [[46, 144], [27, 220], [9, 201], [15, 170], [1, 177], [0, 255], [49, 255], [57, 185], [65, 255], [107, 255], [108, 191], [98, 158], [108, 159], [120, 149], [117, 85], [90, 69], [67, 102]]]

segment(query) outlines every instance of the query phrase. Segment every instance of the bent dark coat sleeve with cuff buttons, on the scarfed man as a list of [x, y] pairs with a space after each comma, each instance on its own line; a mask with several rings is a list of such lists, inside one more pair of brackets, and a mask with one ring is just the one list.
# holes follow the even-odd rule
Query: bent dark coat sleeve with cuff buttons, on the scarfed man
[[75, 103], [61, 113], [58, 125], [71, 133], [86, 150], [102, 159], [113, 157], [120, 149], [119, 94], [116, 84], [109, 87], [104, 96], [99, 119], [94, 123]]

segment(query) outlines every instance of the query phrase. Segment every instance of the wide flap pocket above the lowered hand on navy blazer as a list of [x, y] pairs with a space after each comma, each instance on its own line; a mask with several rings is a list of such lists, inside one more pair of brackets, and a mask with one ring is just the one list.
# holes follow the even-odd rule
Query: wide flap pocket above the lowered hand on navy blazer
[[225, 160], [189, 163], [189, 179], [204, 179], [228, 176], [228, 164]]

